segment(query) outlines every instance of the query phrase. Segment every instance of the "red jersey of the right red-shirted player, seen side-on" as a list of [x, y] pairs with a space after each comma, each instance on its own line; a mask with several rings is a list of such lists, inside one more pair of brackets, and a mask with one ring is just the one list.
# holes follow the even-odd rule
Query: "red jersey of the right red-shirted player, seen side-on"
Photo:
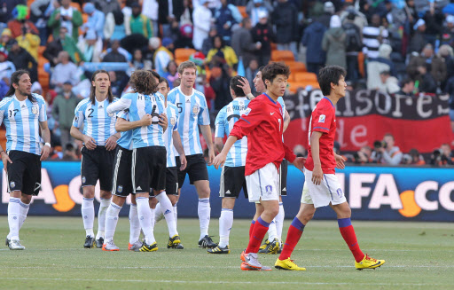
[[309, 122], [309, 154], [304, 167], [310, 171], [314, 170], [314, 160], [310, 146], [312, 132], [322, 132], [319, 139], [320, 162], [322, 171], [325, 174], [334, 174], [336, 160], [334, 159], [334, 137], [336, 136], [336, 109], [329, 98], [322, 98], [310, 115]]

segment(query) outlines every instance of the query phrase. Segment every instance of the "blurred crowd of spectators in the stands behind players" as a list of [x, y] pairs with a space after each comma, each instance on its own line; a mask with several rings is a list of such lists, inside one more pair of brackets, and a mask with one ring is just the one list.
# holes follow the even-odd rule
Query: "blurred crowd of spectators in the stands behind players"
[[[252, 84], [259, 67], [285, 60], [301, 76], [291, 76], [292, 92], [312, 90], [321, 67], [338, 65], [352, 89], [450, 94], [454, 123], [454, 4], [445, 0], [0, 0], [0, 33], [0, 98], [12, 72], [30, 71], [33, 92], [48, 105], [52, 160], [80, 157], [69, 129], [100, 62], [112, 63], [112, 90], [121, 96], [136, 69], [154, 69], [172, 89], [176, 67], [191, 59], [213, 120], [231, 101], [231, 76]], [[350, 160], [452, 163], [450, 145], [424, 161], [389, 138], [389, 148], [366, 146]], [[393, 147], [398, 157], [387, 160]]]

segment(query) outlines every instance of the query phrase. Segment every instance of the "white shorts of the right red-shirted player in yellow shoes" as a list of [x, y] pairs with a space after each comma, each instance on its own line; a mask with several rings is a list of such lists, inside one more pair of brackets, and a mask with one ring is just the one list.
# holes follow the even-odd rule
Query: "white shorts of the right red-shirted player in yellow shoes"
[[345, 194], [340, 189], [335, 174], [324, 174], [320, 185], [312, 182], [312, 171], [304, 169], [304, 187], [302, 188], [301, 203], [313, 204], [315, 208], [344, 203]]

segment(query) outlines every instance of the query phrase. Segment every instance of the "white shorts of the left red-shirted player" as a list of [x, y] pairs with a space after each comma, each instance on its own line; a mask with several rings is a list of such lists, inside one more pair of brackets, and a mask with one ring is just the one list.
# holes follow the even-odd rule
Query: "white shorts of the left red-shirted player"
[[249, 202], [279, 200], [278, 180], [278, 169], [273, 163], [268, 163], [262, 169], [258, 169], [250, 176], [246, 176]]

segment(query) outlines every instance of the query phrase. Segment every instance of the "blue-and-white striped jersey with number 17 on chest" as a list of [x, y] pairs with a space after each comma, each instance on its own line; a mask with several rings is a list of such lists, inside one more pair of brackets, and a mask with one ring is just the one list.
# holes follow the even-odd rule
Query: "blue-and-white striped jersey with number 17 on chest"
[[20, 101], [16, 96], [0, 102], [0, 124], [6, 127], [6, 151], [18, 150], [40, 155], [41, 137], [39, 122], [47, 121], [44, 98], [33, 94], [36, 102], [28, 98]]

